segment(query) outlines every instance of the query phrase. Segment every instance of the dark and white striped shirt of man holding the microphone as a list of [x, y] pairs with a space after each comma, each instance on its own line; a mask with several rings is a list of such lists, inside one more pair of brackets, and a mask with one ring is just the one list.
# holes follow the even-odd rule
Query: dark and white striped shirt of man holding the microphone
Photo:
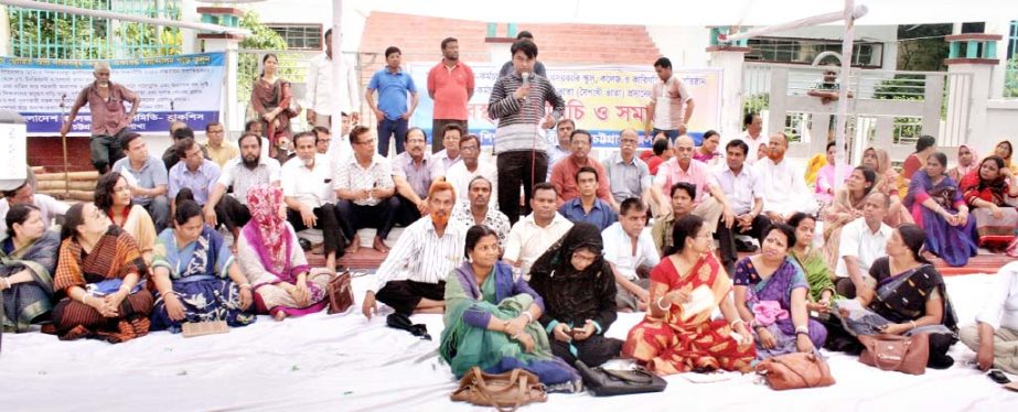
[[558, 121], [566, 110], [566, 101], [551, 83], [543, 76], [531, 76], [531, 93], [517, 99], [513, 93], [523, 85], [519, 74], [500, 77], [492, 87], [487, 101], [487, 116], [499, 119], [495, 130], [495, 154], [518, 150], [547, 151], [540, 123], [545, 118], [545, 102], [551, 105], [551, 117]]

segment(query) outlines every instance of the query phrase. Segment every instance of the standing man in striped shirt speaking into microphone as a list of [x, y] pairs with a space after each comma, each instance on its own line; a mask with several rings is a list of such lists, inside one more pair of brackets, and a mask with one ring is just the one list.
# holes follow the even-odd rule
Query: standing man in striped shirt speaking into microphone
[[[495, 159], [499, 166], [499, 209], [513, 224], [529, 214], [533, 187], [548, 174], [548, 143], [544, 130], [562, 116], [566, 102], [547, 78], [534, 75], [537, 45], [523, 39], [513, 43], [513, 74], [500, 77], [491, 91], [487, 115], [499, 120]], [[545, 112], [545, 102], [551, 112]], [[519, 185], [526, 200], [519, 209]]]

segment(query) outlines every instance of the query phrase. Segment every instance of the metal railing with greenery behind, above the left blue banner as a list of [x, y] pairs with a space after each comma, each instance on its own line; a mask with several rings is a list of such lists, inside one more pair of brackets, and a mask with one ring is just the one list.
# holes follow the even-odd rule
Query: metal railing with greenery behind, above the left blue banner
[[[43, 0], [83, 9], [180, 20], [181, 0]], [[181, 53], [180, 29], [53, 11], [8, 8], [11, 55], [35, 58], [133, 58]]]

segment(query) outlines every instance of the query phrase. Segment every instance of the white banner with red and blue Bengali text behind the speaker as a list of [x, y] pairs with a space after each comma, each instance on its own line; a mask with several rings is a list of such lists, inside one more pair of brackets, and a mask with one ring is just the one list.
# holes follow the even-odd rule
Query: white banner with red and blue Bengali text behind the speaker
[[[500, 67], [490, 63], [470, 64], [474, 74], [474, 93], [468, 104], [468, 124], [472, 133], [481, 137], [481, 144], [491, 145], [496, 122], [487, 117], [487, 102]], [[436, 63], [410, 64], [410, 75], [420, 95], [420, 104], [410, 119], [410, 126], [431, 133], [433, 101], [428, 97], [428, 72]], [[548, 78], [566, 101], [565, 118], [576, 121], [578, 129], [593, 134], [594, 148], [618, 148], [619, 132], [633, 128], [640, 134], [640, 147], [650, 148], [652, 140], [644, 135], [646, 105], [651, 88], [661, 82], [653, 67], [644, 66], [564, 66], [547, 67]], [[716, 129], [721, 119], [721, 71], [719, 68], [676, 68], [674, 72], [686, 84], [696, 101], [688, 133], [699, 138]], [[549, 109], [550, 110], [550, 109]], [[555, 142], [555, 133], [547, 139]]]

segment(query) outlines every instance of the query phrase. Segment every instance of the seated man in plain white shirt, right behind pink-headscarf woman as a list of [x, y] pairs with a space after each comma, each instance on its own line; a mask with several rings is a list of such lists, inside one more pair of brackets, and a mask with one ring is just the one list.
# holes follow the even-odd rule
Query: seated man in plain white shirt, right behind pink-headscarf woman
[[[287, 220], [293, 230], [322, 230], [325, 247], [325, 269], [335, 271], [336, 251], [342, 235], [335, 205], [330, 203], [332, 163], [317, 152], [318, 137], [304, 131], [293, 137], [297, 156], [282, 165], [282, 195], [287, 204]], [[340, 252], [342, 256], [342, 252]]]

